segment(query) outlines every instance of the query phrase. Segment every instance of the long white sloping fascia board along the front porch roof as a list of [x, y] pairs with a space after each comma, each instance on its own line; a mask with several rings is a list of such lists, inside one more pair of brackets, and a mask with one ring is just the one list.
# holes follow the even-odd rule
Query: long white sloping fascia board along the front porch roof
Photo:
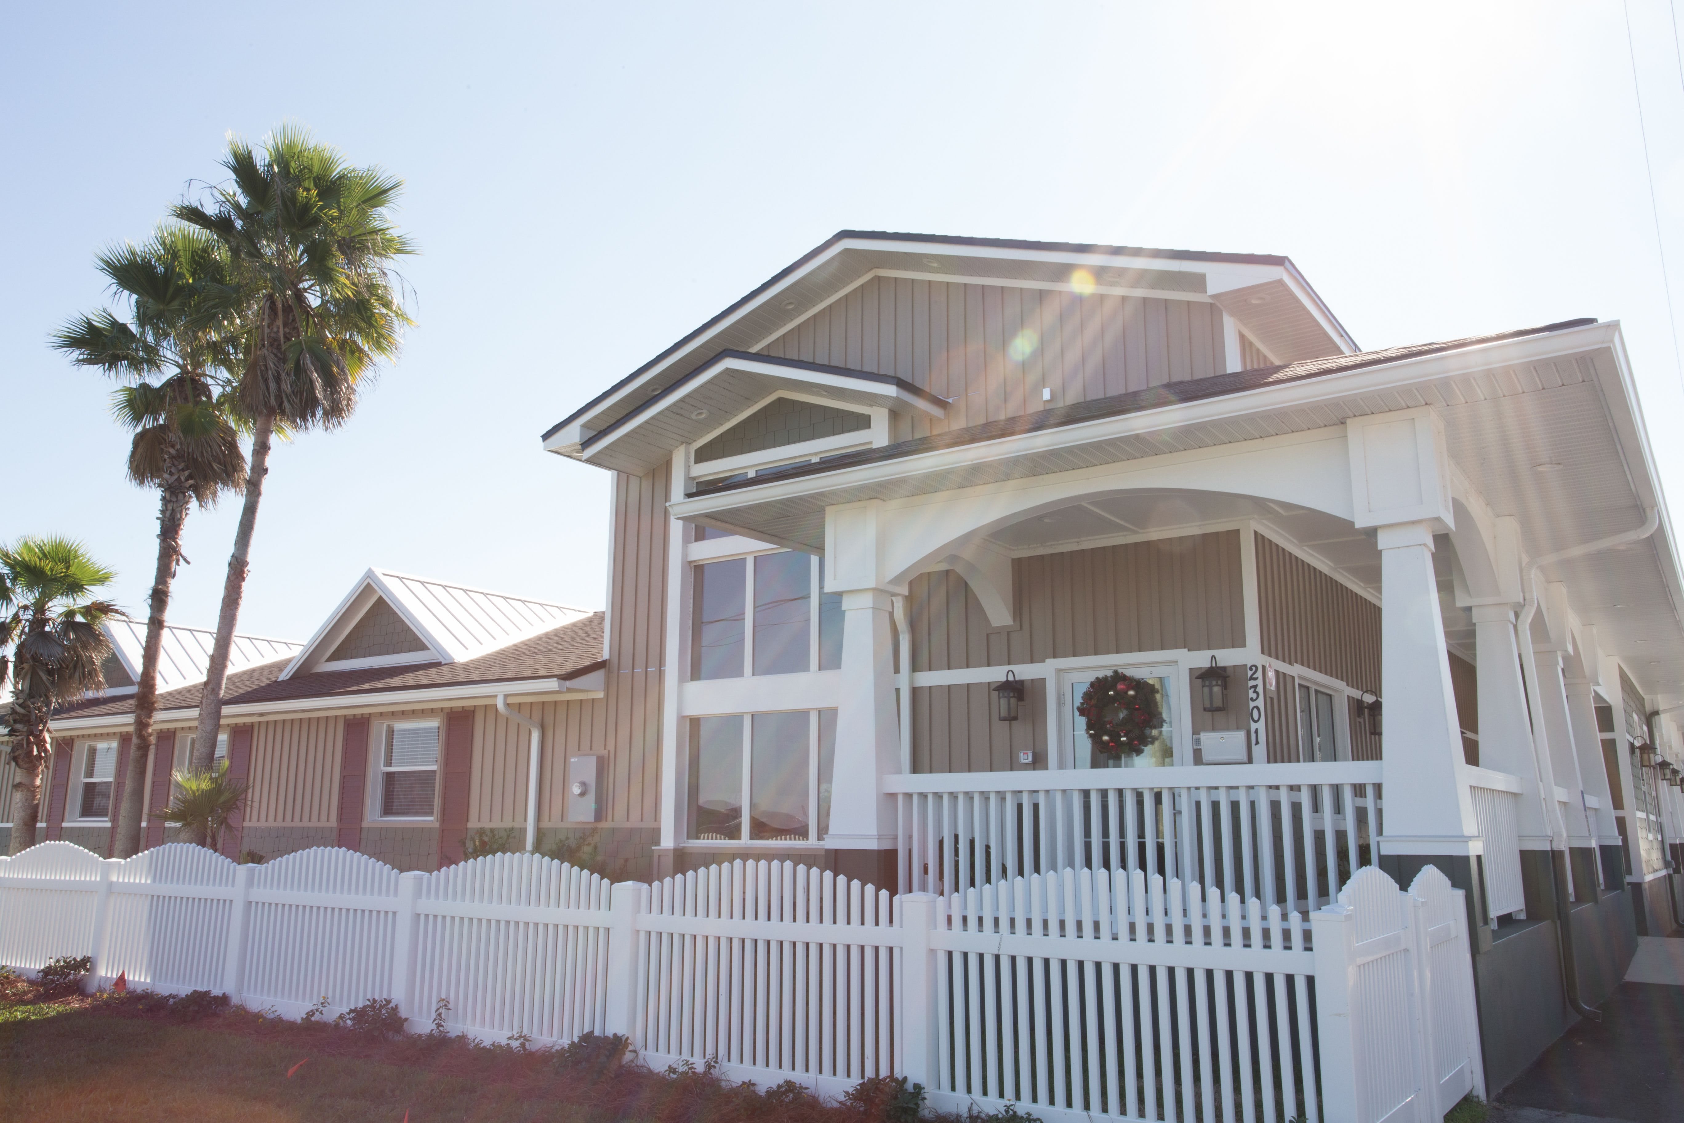
[[1593, 323], [1581, 328], [1551, 332], [1548, 335], [1499, 340], [1494, 343], [1482, 343], [1436, 355], [1401, 359], [1398, 362], [1362, 367], [1359, 370], [1347, 370], [1342, 374], [1305, 377], [1282, 386], [1261, 386], [1202, 401], [1175, 402], [1115, 418], [1079, 421], [1054, 429], [1002, 436], [975, 444], [957, 444], [951, 448], [921, 453], [918, 456], [855, 465], [852, 468], [839, 468], [822, 475], [771, 480], [746, 488], [733, 488], [722, 493], [679, 500], [670, 503], [670, 510], [680, 519], [690, 519], [724, 512], [733, 507], [743, 507], [746, 502], [759, 503], [780, 498], [798, 498], [812, 492], [877, 483], [926, 471], [943, 471], [963, 465], [975, 465], [983, 460], [1052, 451], [1069, 444], [1103, 441], [1118, 436], [1138, 436], [1143, 433], [1187, 424], [1229, 421], [1251, 414], [1273, 412], [1276, 409], [1302, 409], [1342, 397], [1357, 397], [1362, 394], [1401, 389], [1416, 382], [1474, 374], [1504, 362], [1536, 362], [1556, 355], [1585, 352], [1595, 347], [1605, 347], [1615, 338], [1618, 338], [1617, 327]]

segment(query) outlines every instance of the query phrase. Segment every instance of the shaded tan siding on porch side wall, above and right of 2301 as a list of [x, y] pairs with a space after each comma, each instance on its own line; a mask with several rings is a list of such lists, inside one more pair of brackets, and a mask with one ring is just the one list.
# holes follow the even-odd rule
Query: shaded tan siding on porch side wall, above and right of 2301
[[1256, 535], [1263, 655], [1379, 689], [1379, 604]]

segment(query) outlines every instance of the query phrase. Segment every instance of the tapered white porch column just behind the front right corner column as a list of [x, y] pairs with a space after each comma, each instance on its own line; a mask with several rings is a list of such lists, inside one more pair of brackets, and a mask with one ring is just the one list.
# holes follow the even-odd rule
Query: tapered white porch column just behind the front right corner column
[[1539, 803], [1537, 766], [1532, 763], [1532, 717], [1526, 709], [1514, 611], [1511, 604], [1474, 606], [1479, 660], [1479, 763], [1521, 781], [1521, 849], [1548, 850], [1549, 823]]

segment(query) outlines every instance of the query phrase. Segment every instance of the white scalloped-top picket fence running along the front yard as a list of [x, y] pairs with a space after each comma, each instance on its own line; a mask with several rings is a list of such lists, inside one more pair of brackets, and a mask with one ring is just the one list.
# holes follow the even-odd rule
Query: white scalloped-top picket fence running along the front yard
[[445, 998], [483, 1041], [621, 1032], [657, 1067], [827, 1096], [903, 1074], [1049, 1123], [1426, 1123], [1484, 1091], [1462, 892], [1435, 869], [1408, 892], [1362, 869], [1305, 918], [1140, 869], [891, 897], [788, 862], [610, 886], [525, 854], [0, 859], [0, 963], [83, 953], [99, 982], [288, 1017], [392, 998], [424, 1029]]

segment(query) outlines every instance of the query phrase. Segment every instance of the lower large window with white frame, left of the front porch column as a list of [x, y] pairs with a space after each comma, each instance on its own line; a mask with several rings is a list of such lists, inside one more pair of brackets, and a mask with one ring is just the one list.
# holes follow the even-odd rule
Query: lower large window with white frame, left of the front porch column
[[822, 842], [834, 764], [835, 711], [692, 719], [690, 840]]

